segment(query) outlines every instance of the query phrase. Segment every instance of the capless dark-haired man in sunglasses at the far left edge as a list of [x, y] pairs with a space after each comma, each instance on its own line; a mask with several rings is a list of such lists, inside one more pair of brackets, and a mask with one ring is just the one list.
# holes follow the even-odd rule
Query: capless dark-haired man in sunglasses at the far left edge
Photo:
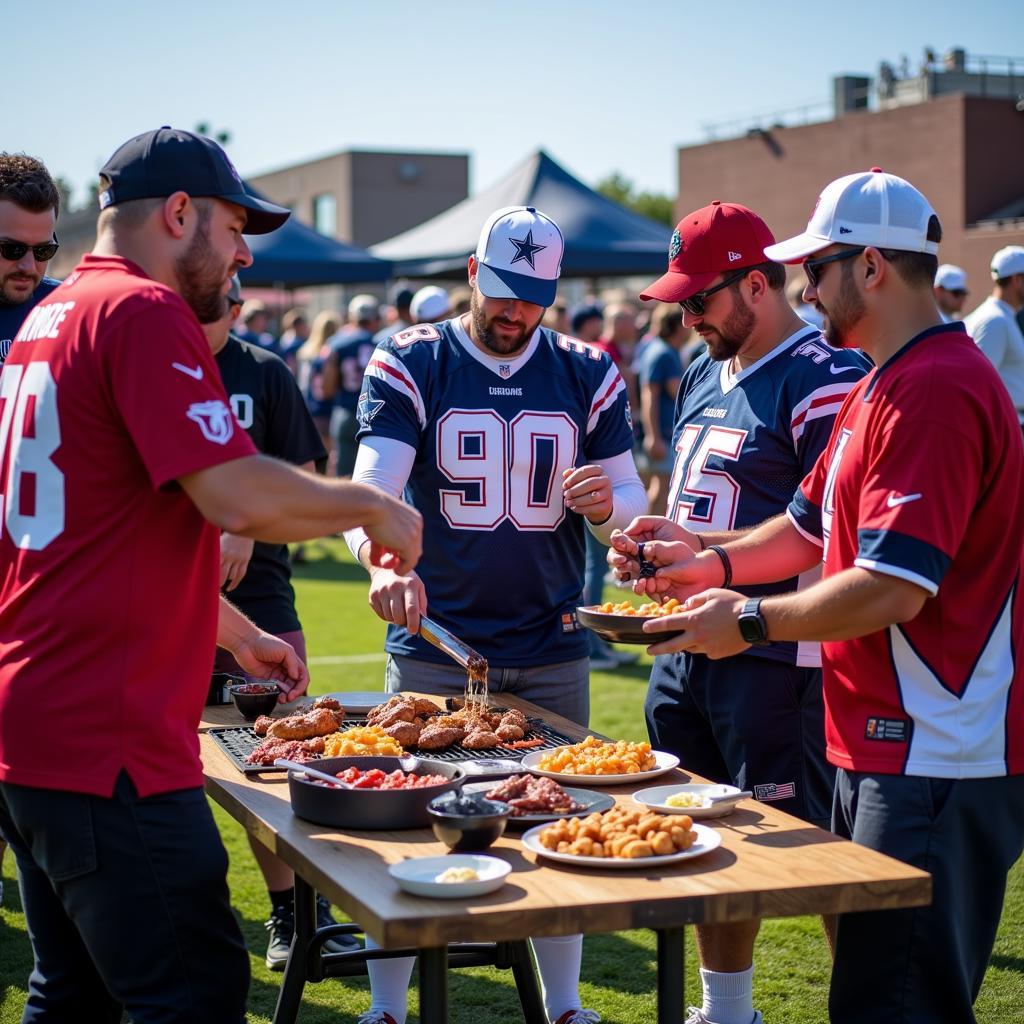
[[60, 284], [45, 276], [59, 211], [60, 193], [41, 161], [0, 153], [0, 367], [25, 317]]

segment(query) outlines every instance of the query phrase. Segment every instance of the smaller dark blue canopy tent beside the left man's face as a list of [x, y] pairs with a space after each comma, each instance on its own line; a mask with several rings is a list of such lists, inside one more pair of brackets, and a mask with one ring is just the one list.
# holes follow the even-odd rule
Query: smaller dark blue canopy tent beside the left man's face
[[[260, 199], [255, 188], [248, 191]], [[313, 230], [293, 214], [269, 234], [246, 237], [253, 265], [239, 271], [248, 288], [305, 288], [313, 285], [344, 285], [355, 282], [387, 281], [391, 263]]]

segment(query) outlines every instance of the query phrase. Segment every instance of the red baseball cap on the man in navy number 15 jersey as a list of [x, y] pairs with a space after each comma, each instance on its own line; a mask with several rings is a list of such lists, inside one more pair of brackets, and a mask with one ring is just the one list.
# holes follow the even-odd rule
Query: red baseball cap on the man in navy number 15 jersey
[[764, 263], [765, 246], [774, 244], [775, 237], [753, 210], [715, 200], [676, 225], [669, 243], [669, 271], [640, 298], [682, 302], [720, 273]]

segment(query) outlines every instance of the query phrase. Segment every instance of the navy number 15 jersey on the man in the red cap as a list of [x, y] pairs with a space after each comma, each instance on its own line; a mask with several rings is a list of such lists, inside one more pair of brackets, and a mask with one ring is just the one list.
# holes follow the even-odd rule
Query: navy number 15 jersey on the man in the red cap
[[[695, 359], [676, 399], [666, 514], [695, 534], [756, 526], [784, 512], [868, 369], [859, 352], [833, 348], [815, 328], [796, 332], [738, 374], [729, 361]], [[792, 579], [743, 593], [797, 586]], [[820, 664], [817, 644], [771, 644], [750, 653]]]

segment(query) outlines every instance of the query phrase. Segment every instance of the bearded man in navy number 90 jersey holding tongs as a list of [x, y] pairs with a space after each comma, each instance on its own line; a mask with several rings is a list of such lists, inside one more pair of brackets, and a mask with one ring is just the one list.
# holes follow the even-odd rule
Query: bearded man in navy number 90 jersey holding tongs
[[[562, 234], [539, 210], [492, 214], [469, 257], [470, 311], [400, 331], [374, 352], [359, 396], [353, 479], [423, 512], [415, 572], [369, 564], [370, 603], [390, 625], [387, 688], [462, 694], [466, 673], [417, 636], [428, 611], [511, 692], [586, 725], [584, 531], [604, 543], [646, 508], [626, 387], [603, 352], [541, 327]], [[535, 940], [552, 1021], [583, 1024], [579, 936]], [[373, 962], [375, 1022], [402, 1024], [411, 961]]]

